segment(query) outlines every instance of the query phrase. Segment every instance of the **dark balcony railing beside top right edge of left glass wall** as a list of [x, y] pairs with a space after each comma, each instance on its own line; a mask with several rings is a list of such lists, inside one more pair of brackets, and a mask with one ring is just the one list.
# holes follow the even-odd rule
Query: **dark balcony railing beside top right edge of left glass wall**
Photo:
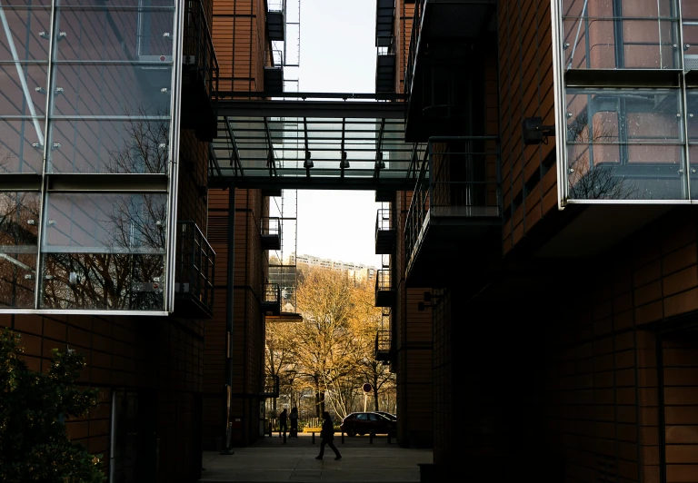
[[188, 0], [184, 13], [184, 69], [197, 71], [206, 93], [216, 96], [220, 67], [214, 40], [200, 0]]

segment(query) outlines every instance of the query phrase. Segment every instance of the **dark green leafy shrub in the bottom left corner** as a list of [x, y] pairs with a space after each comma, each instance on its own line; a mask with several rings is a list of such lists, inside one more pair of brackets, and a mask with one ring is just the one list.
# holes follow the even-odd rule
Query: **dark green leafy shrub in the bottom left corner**
[[65, 432], [65, 418], [95, 408], [98, 389], [75, 387], [85, 357], [52, 350], [44, 374], [20, 358], [20, 337], [0, 331], [0, 482], [101, 483], [102, 455], [91, 455]]

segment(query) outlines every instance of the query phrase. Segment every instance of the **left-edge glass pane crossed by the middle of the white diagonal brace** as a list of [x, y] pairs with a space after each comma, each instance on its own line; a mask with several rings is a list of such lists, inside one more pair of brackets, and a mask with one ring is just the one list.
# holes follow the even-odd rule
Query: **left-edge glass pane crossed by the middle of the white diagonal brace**
[[45, 64], [0, 64], [0, 116], [43, 116]]

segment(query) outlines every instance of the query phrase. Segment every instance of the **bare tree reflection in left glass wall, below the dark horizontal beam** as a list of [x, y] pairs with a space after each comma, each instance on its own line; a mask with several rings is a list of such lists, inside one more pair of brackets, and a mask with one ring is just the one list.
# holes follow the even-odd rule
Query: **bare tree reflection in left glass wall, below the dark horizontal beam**
[[166, 198], [162, 194], [105, 198], [113, 209], [97, 220], [107, 234], [101, 253], [53, 253], [45, 303], [102, 310], [163, 310]]

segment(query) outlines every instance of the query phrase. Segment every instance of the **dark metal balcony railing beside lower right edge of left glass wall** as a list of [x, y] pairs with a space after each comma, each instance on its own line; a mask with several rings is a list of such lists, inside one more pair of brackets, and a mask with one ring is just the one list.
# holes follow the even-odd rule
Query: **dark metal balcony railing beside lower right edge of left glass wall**
[[177, 222], [175, 293], [214, 308], [215, 251], [195, 222]]

